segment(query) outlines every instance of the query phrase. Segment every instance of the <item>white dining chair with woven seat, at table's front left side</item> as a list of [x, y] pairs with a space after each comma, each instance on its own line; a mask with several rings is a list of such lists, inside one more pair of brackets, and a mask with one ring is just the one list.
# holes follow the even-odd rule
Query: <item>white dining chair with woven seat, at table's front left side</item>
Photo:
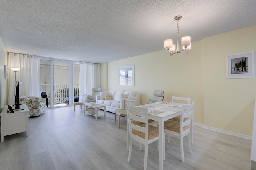
[[[129, 155], [128, 162], [131, 161], [132, 140], [136, 140], [145, 146], [144, 152], [144, 170], [147, 169], [148, 145], [159, 139], [158, 127], [149, 125], [148, 123], [148, 107], [136, 107], [126, 104], [128, 128], [129, 128]], [[142, 125], [136, 125], [133, 121], [142, 122]], [[164, 131], [165, 133], [165, 131]], [[164, 135], [163, 135], [164, 140]], [[164, 143], [165, 145], [165, 143]], [[159, 143], [158, 143], [159, 147]], [[165, 146], [164, 146], [165, 160]]]

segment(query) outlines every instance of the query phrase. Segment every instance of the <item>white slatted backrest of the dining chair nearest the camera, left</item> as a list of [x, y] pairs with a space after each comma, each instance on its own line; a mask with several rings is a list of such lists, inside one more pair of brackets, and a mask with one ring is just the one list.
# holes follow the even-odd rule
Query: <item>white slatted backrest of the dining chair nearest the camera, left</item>
[[[130, 137], [141, 141], [143, 139], [148, 140], [148, 107], [136, 107], [126, 104], [127, 118], [129, 122]], [[138, 126], [132, 123], [131, 120], [145, 123], [145, 127]], [[145, 133], [145, 138], [132, 134], [132, 130], [137, 130], [141, 133]]]

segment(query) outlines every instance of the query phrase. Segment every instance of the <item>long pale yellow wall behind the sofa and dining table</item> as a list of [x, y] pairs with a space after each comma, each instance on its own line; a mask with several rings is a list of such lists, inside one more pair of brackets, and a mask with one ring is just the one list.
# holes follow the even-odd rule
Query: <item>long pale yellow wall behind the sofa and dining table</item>
[[[205, 126], [252, 135], [256, 79], [226, 79], [226, 55], [255, 51], [256, 25], [192, 43], [189, 54], [170, 56], [166, 50], [102, 64], [102, 87], [134, 90], [140, 103], [153, 90], [192, 97], [194, 121]], [[118, 86], [118, 67], [134, 65], [134, 86]], [[107, 78], [105, 77], [107, 76]]]

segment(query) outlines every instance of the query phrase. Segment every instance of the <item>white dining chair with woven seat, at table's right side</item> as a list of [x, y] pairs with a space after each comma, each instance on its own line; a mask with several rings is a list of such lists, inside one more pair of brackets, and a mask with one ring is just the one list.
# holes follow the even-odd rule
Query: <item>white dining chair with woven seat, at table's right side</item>
[[[183, 149], [183, 137], [186, 135], [188, 135], [189, 150], [190, 150], [190, 153], [192, 154], [190, 128], [191, 128], [191, 121], [192, 121], [193, 112], [194, 112], [194, 103], [195, 102], [193, 102], [192, 104], [182, 105], [180, 122], [173, 121], [173, 120], [167, 120], [164, 122], [164, 130], [166, 131], [166, 134], [176, 135], [180, 137], [180, 154], [181, 154], [182, 162], [185, 162], [184, 149]], [[186, 121], [184, 121], [184, 118], [186, 118]]]

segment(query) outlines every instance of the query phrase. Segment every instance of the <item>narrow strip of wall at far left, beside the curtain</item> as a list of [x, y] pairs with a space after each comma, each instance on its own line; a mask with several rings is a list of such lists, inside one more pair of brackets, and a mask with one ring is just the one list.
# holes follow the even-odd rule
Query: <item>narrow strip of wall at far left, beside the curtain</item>
[[4, 78], [4, 65], [7, 65], [7, 51], [0, 37], [0, 111], [4, 108], [7, 101], [7, 79]]

